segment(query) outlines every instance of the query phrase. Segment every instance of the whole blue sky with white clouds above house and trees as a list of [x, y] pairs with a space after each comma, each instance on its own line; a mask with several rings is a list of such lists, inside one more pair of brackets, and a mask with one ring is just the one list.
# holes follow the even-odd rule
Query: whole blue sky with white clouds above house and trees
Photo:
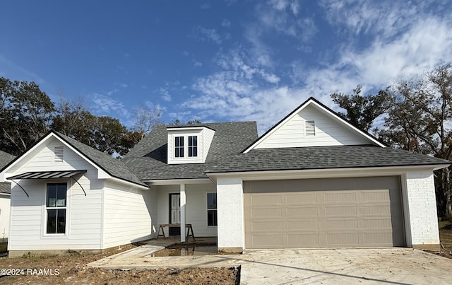
[[0, 76], [133, 122], [256, 120], [452, 62], [451, 1], [1, 1]]

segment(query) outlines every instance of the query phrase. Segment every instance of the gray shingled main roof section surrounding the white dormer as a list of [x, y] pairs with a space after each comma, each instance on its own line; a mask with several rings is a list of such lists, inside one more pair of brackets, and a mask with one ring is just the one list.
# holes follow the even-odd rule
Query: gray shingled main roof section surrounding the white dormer
[[224, 165], [258, 137], [256, 122], [189, 125], [189, 127], [200, 126], [215, 131], [206, 163], [167, 164], [167, 126], [155, 127], [124, 156], [122, 161], [141, 180], [207, 178], [204, 173], [206, 169]]

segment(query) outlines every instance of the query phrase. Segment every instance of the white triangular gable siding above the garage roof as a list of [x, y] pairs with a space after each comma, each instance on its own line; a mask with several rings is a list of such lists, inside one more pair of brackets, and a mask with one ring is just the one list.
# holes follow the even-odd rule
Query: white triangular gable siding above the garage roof
[[[314, 121], [315, 134], [306, 127]], [[280, 124], [264, 138], [255, 149], [272, 149], [304, 146], [340, 146], [372, 144], [364, 136], [357, 134], [346, 124], [333, 119], [331, 115], [308, 105], [287, 122]]]

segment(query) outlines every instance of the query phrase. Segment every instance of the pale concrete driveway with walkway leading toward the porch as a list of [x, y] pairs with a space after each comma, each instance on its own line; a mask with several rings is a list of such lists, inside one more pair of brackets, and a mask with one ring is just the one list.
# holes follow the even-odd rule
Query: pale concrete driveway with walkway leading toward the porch
[[152, 257], [152, 245], [90, 263], [114, 269], [241, 266], [241, 284], [452, 284], [452, 260], [410, 248], [253, 250]]

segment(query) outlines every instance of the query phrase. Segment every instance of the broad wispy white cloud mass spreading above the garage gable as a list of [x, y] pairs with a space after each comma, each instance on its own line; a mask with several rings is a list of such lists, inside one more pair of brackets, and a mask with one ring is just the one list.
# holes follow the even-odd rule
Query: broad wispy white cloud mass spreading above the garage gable
[[[268, 25], [281, 24], [275, 29], [288, 37], [292, 34], [282, 27], [290, 22], [278, 22], [280, 19], [272, 17], [280, 11], [288, 13], [290, 3], [271, 1], [273, 11], [263, 20]], [[319, 59], [322, 62], [316, 67], [302, 59], [289, 64], [276, 61], [263, 43], [267, 32], [259, 25], [248, 25], [245, 36], [251, 48], [241, 46], [220, 54], [216, 60], [220, 70], [197, 78], [191, 86], [196, 100], [191, 98], [182, 106], [204, 117], [256, 120], [262, 133], [310, 96], [338, 109], [329, 97], [333, 92], [351, 93], [361, 84], [363, 93], [374, 93], [399, 78], [422, 74], [441, 62], [452, 62], [452, 15], [422, 13], [422, 5], [407, 4], [404, 11], [398, 12], [396, 4], [385, 6], [385, 2], [374, 7], [373, 3], [376, 2], [359, 2], [357, 6], [353, 6], [355, 1], [323, 3], [326, 14], [332, 17], [331, 25], [350, 29], [340, 33], [350, 33], [352, 40], [345, 39], [338, 50], [327, 51], [334, 56]], [[333, 16], [333, 11], [338, 14]], [[396, 17], [398, 13], [400, 18]], [[309, 25], [309, 21], [304, 24]], [[314, 21], [311, 24], [315, 27]], [[367, 34], [365, 45], [357, 42], [362, 37], [356, 35], [363, 33]], [[299, 31], [296, 35], [301, 39]], [[311, 52], [306, 45], [299, 47]], [[259, 52], [265, 60], [257, 60]], [[284, 65], [286, 69], [279, 68]], [[287, 79], [292, 86], [287, 85]]]

